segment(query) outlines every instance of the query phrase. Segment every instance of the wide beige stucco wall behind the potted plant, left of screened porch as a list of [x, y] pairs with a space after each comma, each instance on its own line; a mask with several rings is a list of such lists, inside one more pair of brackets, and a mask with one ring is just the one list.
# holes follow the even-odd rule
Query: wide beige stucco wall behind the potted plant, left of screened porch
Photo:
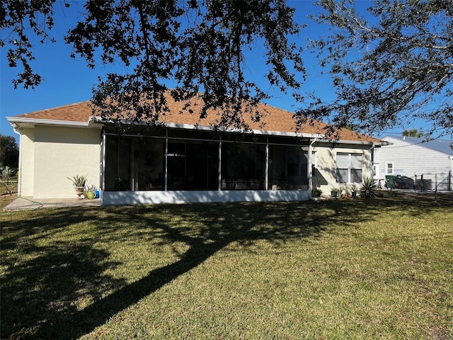
[[36, 125], [33, 198], [76, 198], [67, 177], [88, 177], [100, 186], [101, 130]]

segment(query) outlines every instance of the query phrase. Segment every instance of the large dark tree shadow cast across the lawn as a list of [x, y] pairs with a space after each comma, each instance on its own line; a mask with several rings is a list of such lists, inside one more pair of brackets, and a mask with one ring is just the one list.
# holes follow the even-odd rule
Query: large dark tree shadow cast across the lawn
[[[2, 224], [1, 248], [6, 254], [2, 256], [2, 266], [8, 270], [1, 279], [1, 337], [76, 339], [232, 242], [246, 246], [260, 239], [279, 244], [294, 238], [322, 237], [332, 228], [373, 220], [376, 210], [391, 208], [392, 202], [392, 198], [382, 198], [324, 203], [202, 203], [23, 214], [23, 218], [18, 216], [6, 226]], [[420, 211], [419, 203], [402, 204], [412, 213]], [[432, 205], [426, 205], [424, 213], [430, 208]], [[82, 229], [72, 239], [52, 236], [83, 222], [94, 227]], [[117, 233], [121, 226], [127, 228], [126, 233]], [[99, 239], [131, 242], [137, 237], [157, 235], [163, 244], [183, 242], [188, 250], [179, 254], [174, 263], [156, 268], [133, 283], [105, 274], [106, 270], [127, 263], [110, 261], [108, 251], [95, 249]], [[33, 242], [21, 242], [24, 237]], [[40, 239], [51, 237], [55, 238], [53, 243], [38, 245]], [[8, 257], [8, 249], [16, 247], [21, 247], [21, 256], [30, 259]], [[78, 310], [76, 301], [84, 299], [88, 299], [87, 307]]]

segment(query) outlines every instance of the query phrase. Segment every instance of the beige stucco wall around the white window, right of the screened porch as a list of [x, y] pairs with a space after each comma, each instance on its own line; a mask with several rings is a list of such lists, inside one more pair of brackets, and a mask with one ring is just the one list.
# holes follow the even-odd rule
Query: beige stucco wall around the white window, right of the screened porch
[[[327, 184], [321, 185], [323, 196], [330, 196], [331, 189], [339, 187], [342, 184], [336, 181], [336, 156], [337, 152], [362, 154], [362, 178], [372, 177], [372, 149], [370, 145], [336, 145], [331, 147], [329, 145], [318, 144], [313, 149], [315, 156], [314, 162], [316, 169], [319, 170]], [[357, 183], [356, 183], [357, 184]], [[352, 183], [343, 184], [350, 188]]]

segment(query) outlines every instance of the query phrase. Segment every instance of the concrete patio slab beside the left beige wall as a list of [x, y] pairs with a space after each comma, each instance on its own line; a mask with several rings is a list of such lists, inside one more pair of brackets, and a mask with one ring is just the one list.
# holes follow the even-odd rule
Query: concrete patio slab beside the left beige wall
[[68, 208], [68, 207], [98, 207], [102, 205], [102, 200], [96, 198], [88, 200], [87, 198], [42, 198], [35, 199], [32, 197], [18, 197], [13, 202], [6, 205], [4, 211], [15, 210], [36, 210], [42, 208]]

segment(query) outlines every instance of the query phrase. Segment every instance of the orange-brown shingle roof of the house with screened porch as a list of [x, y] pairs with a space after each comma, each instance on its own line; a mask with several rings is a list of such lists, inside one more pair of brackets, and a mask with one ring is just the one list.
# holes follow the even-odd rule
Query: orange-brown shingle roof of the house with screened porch
[[[184, 102], [176, 102], [171, 96], [167, 96], [168, 108], [170, 112], [162, 116], [159, 120], [161, 123], [168, 125], [184, 125], [184, 126], [199, 126], [199, 127], [211, 127], [216, 123], [216, 120], [220, 118], [219, 113], [215, 111], [208, 111], [207, 118], [200, 119], [199, 114], [195, 111], [189, 113], [187, 110], [183, 111]], [[192, 106], [192, 108], [199, 108], [200, 106]], [[249, 115], [244, 115], [244, 120], [251, 127], [252, 130], [258, 132], [275, 132], [275, 134], [294, 134], [296, 131], [296, 123], [294, 120], [294, 114], [268, 106], [260, 104], [258, 110], [263, 113], [263, 118], [259, 123], [251, 121]], [[181, 113], [182, 112], [182, 113]], [[35, 111], [32, 113], [25, 113], [22, 115], [16, 115], [8, 118], [11, 123], [48, 123], [54, 125], [88, 125], [90, 119], [93, 119], [93, 111], [91, 108], [91, 102], [85, 101], [82, 103], [74, 103], [67, 106], [61, 106], [58, 108], [49, 108], [42, 111]], [[325, 123], [315, 122], [314, 125], [306, 124], [298, 131], [299, 135], [324, 135], [323, 128], [326, 126]], [[367, 143], [382, 143], [382, 140], [377, 138], [369, 137], [367, 135], [357, 134], [351, 130], [342, 129], [340, 131], [340, 141], [350, 142], [367, 142]]]

